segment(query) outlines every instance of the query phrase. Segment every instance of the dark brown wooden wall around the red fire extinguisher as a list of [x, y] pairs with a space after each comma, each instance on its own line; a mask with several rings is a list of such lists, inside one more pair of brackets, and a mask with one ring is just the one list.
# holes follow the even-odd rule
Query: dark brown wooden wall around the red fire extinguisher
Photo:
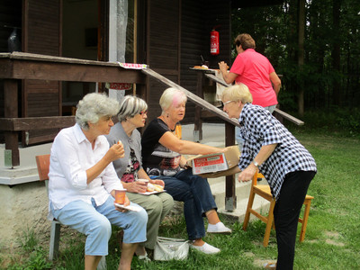
[[[190, 67], [202, 64], [202, 58], [217, 68], [220, 60], [230, 59], [230, 1], [176, 0], [148, 1], [147, 63], [195, 93], [197, 76]], [[210, 55], [210, 32], [220, 25], [220, 55]], [[158, 100], [165, 85], [149, 80], [148, 119], [161, 113]], [[193, 122], [194, 104], [187, 103], [183, 123]]]

